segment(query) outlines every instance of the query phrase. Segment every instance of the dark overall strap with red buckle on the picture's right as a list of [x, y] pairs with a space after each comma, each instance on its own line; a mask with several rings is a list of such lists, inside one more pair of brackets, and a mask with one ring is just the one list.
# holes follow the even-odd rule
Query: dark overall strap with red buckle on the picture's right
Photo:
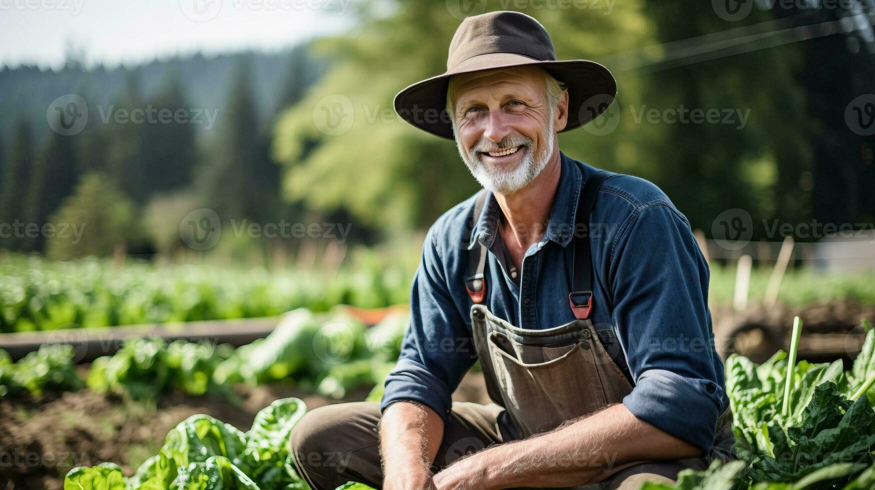
[[[580, 199], [577, 200], [577, 224], [583, 224], [584, 236], [576, 236], [574, 240], [574, 258], [572, 259], [571, 292], [568, 301], [571, 311], [578, 319], [590, 318], [592, 311], [592, 257], [590, 250], [590, 212], [595, 203], [598, 189], [605, 180], [611, 177], [608, 172], [593, 173], [584, 184]], [[577, 225], [575, 225], [577, 230]]]

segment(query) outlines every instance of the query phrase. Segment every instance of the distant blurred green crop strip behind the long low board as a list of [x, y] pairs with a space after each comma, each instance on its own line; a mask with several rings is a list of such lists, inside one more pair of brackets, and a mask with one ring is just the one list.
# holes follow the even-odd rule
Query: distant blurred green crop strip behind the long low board
[[83, 259], [51, 262], [4, 255], [0, 261], [0, 332], [269, 317], [336, 304], [377, 308], [409, 301], [412, 270], [365, 256], [354, 269], [240, 269], [155, 266]]

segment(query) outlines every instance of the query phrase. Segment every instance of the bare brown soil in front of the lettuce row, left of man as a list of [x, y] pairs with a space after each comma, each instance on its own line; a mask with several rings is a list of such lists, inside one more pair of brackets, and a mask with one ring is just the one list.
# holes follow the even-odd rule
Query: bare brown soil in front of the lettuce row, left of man
[[[248, 430], [258, 410], [279, 398], [297, 396], [310, 409], [364, 400], [367, 389], [343, 400], [302, 393], [290, 385], [238, 387], [239, 405], [210, 396], [174, 393], [157, 401], [132, 402], [89, 389], [38, 399], [0, 399], [0, 490], [61, 490], [75, 466], [112, 461], [130, 476], [158, 453], [167, 432], [195, 414], [207, 414]], [[453, 396], [488, 402], [483, 376], [469, 373]]]

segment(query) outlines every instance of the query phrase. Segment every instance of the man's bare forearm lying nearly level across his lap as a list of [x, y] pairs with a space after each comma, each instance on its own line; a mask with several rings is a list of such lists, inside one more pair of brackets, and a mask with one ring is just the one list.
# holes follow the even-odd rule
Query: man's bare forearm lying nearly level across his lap
[[560, 429], [499, 444], [435, 475], [437, 488], [555, 487], [594, 483], [625, 465], [702, 451], [616, 404]]

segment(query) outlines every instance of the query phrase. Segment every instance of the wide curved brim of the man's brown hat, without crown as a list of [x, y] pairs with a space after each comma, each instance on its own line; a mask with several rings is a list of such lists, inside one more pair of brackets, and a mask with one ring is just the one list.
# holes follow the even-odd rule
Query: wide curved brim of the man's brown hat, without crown
[[420, 130], [454, 139], [450, 115], [446, 112], [446, 91], [450, 86], [450, 77], [511, 66], [541, 66], [568, 88], [568, 123], [559, 132], [589, 123], [605, 112], [617, 95], [617, 81], [613, 74], [595, 61], [543, 61], [513, 52], [490, 52], [465, 59], [450, 72], [404, 88], [395, 95], [395, 112]]

